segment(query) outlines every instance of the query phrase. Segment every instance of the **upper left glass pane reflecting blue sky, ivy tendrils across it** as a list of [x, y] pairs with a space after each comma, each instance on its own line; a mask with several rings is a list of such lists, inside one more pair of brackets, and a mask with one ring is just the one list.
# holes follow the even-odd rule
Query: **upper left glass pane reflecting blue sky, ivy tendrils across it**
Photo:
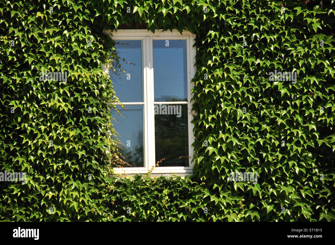
[[120, 78], [112, 72], [112, 68], [109, 71], [116, 96], [121, 102], [143, 102], [142, 40], [116, 41], [120, 42], [115, 48], [119, 52], [121, 68], [126, 72], [115, 69]]

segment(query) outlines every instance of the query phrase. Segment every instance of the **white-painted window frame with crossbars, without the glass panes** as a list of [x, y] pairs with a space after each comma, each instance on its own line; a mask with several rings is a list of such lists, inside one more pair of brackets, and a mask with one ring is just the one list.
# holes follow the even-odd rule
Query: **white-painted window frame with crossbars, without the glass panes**
[[[147, 30], [139, 30], [139, 29], [122, 29], [122, 30], [107, 30], [107, 33], [111, 33], [111, 37], [114, 40], [142, 40], [142, 67], [143, 67], [143, 98], [144, 102], [136, 103], [136, 102], [124, 102], [124, 103], [116, 103], [127, 105], [144, 105], [144, 115], [143, 115], [143, 123], [144, 123], [144, 167], [122, 167], [122, 168], [114, 168], [115, 173], [120, 174], [145, 174], [149, 170], [151, 170], [152, 166], [156, 164], [155, 162], [155, 134], [154, 134], [154, 104], [159, 104], [159, 102], [154, 102], [154, 88], [153, 88], [153, 48], [152, 48], [152, 40], [168, 40], [168, 39], [184, 39], [186, 40], [186, 53], [187, 53], [187, 102], [160, 102], [161, 104], [187, 104], [188, 109], [188, 138], [189, 138], [189, 166], [181, 167], [154, 167], [151, 171], [153, 175], [160, 174], [173, 174], [178, 173], [181, 175], [190, 175], [193, 172], [194, 163], [192, 161], [194, 155], [194, 148], [192, 143], [194, 142], [193, 138], [193, 128], [194, 124], [191, 123], [192, 114], [191, 112], [191, 90], [194, 86], [191, 83], [192, 78], [195, 75], [196, 67], [195, 67], [195, 54], [196, 47], [195, 43], [195, 35], [189, 31], [183, 31], [182, 35], [177, 30], [171, 31], [163, 31], [162, 29], [155, 31], [155, 33]], [[103, 66], [105, 72], [109, 74], [109, 67], [104, 64]], [[189, 113], [190, 112], [190, 113]], [[159, 165], [159, 164], [158, 164]]]

